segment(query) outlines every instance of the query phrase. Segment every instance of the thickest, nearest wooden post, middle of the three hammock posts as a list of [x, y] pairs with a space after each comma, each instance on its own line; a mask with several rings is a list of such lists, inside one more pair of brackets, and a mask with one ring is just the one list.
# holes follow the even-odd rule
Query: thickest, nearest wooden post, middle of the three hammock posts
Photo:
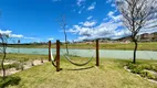
[[60, 72], [60, 40], [56, 40], [56, 72]]

